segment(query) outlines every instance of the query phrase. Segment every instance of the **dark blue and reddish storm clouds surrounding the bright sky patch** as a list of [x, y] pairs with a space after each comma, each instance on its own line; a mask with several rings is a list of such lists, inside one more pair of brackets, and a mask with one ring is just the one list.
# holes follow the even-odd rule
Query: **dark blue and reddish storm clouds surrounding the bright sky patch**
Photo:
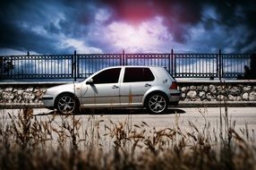
[[[37, 53], [70, 53], [75, 47], [62, 47], [62, 40], [71, 38], [85, 42], [88, 47], [111, 52], [114, 47], [106, 38], [91, 35], [94, 30], [104, 32], [115, 21], [140, 25], [143, 21], [162, 17], [174, 43], [184, 47], [190, 44], [191, 50], [197, 51], [201, 46], [205, 52], [210, 48], [225, 47], [235, 52], [255, 52], [255, 4], [253, 0], [1, 1], [0, 48]], [[204, 16], [208, 7], [212, 7], [216, 12], [213, 14], [218, 16], [210, 13]], [[96, 24], [95, 16], [101, 9], [107, 10], [109, 17]], [[194, 35], [191, 30], [199, 24], [203, 26], [204, 34], [209, 32], [212, 35], [199, 35], [196, 40], [192, 40]], [[236, 31], [240, 31], [239, 35], [243, 39], [234, 36]]]

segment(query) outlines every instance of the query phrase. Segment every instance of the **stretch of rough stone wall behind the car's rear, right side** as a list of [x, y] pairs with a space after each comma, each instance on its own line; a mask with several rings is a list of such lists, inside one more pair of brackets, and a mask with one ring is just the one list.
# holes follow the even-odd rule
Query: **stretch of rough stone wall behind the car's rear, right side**
[[182, 101], [256, 101], [252, 83], [180, 83]]

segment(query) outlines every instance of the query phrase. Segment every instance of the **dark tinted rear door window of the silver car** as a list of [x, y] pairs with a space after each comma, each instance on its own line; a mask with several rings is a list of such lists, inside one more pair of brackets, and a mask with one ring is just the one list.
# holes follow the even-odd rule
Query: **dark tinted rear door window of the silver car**
[[125, 68], [124, 82], [154, 81], [155, 77], [149, 68]]

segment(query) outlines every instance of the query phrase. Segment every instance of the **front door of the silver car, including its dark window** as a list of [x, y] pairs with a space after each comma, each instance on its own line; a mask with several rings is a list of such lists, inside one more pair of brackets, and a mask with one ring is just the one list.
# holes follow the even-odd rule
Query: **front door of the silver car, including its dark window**
[[82, 106], [120, 106], [120, 68], [98, 72], [81, 92]]

